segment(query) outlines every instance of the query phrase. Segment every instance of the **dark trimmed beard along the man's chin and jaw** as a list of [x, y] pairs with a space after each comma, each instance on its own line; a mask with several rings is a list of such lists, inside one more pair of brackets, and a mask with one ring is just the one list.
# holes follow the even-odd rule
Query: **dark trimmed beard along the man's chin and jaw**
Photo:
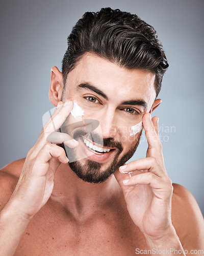
[[113, 138], [104, 139], [104, 146], [118, 148], [118, 151], [114, 160], [104, 170], [102, 170], [101, 168], [101, 165], [102, 165], [101, 163], [98, 163], [89, 159], [86, 159], [85, 164], [82, 164], [80, 160], [69, 162], [69, 167], [78, 176], [78, 178], [82, 179], [85, 182], [95, 183], [95, 184], [103, 183], [108, 178], [110, 178], [110, 176], [114, 174], [114, 172], [121, 165], [124, 165], [125, 162], [134, 155], [139, 145], [141, 134], [136, 145], [130, 148], [130, 150], [120, 160], [119, 160], [119, 156], [123, 150], [122, 144], [120, 142], [116, 142]]

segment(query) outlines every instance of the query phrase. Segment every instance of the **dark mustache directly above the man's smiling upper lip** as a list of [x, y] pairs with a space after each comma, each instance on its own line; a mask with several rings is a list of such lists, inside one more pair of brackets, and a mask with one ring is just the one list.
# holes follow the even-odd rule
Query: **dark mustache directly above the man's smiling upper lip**
[[111, 138], [103, 138], [96, 132], [85, 133], [84, 129], [78, 129], [73, 133], [73, 138], [77, 140], [79, 137], [84, 137], [85, 139], [89, 139], [97, 144], [106, 147], [116, 147], [118, 148], [119, 154], [123, 150], [123, 146], [119, 141], [116, 141], [113, 137]]

